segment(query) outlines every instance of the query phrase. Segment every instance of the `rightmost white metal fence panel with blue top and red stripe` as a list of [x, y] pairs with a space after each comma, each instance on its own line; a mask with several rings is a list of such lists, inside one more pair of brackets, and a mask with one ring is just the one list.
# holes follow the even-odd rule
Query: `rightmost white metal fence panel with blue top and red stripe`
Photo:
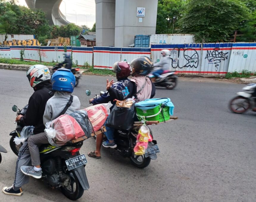
[[256, 72], [256, 43], [233, 43], [228, 72]]

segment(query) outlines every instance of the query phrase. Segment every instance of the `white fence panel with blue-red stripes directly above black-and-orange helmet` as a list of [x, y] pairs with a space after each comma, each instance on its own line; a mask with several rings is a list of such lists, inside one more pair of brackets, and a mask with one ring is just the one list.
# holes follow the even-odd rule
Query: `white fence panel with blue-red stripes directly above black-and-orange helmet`
[[121, 61], [131, 62], [133, 59], [139, 56], [148, 56], [150, 58], [150, 54], [150, 48], [122, 48]]

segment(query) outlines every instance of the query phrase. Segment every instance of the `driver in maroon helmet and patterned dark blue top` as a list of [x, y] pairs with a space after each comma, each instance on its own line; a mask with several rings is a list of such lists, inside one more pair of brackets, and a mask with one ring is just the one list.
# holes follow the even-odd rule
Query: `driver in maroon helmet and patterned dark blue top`
[[[112, 70], [116, 72], [117, 82], [113, 83], [111, 87], [116, 89], [117, 91], [121, 92], [124, 89], [124, 87], [126, 86], [126, 84], [129, 82], [128, 76], [131, 74], [131, 67], [129, 66], [128, 62], [121, 61], [121, 62], [115, 62], [115, 64], [113, 65]], [[106, 91], [98, 99], [93, 99], [93, 98], [90, 99], [90, 103], [92, 103], [93, 105], [96, 105], [96, 104], [111, 102], [114, 106], [115, 105], [115, 101], [114, 101], [115, 99], [116, 99], [116, 97], [111, 96], [109, 94], [109, 92]], [[113, 108], [113, 106], [110, 108], [110, 110]], [[115, 148], [116, 144], [113, 142], [114, 129], [111, 128], [111, 127], [107, 127], [106, 125], [105, 125], [105, 127], [106, 127], [106, 130], [107, 130], [107, 132], [105, 132], [105, 135], [110, 139], [110, 141], [112, 143], [109, 143], [108, 141], [105, 141], [105, 144], [103, 146], [104, 147]], [[92, 152], [89, 152], [88, 153], [89, 157], [93, 157], [93, 158], [96, 158], [96, 159], [101, 158], [100, 148], [101, 148], [102, 140], [103, 140], [103, 135], [102, 134], [97, 135], [96, 150], [92, 151]]]

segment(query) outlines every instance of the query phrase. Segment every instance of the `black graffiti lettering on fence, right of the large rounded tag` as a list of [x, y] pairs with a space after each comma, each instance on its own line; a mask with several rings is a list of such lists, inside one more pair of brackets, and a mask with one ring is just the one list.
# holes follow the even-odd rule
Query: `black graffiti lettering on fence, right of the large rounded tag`
[[207, 50], [205, 59], [208, 60], [209, 64], [215, 64], [215, 71], [218, 71], [218, 66], [221, 63], [221, 60], [227, 59], [227, 54], [223, 51], [220, 51], [219, 48], [214, 48], [213, 50]]

